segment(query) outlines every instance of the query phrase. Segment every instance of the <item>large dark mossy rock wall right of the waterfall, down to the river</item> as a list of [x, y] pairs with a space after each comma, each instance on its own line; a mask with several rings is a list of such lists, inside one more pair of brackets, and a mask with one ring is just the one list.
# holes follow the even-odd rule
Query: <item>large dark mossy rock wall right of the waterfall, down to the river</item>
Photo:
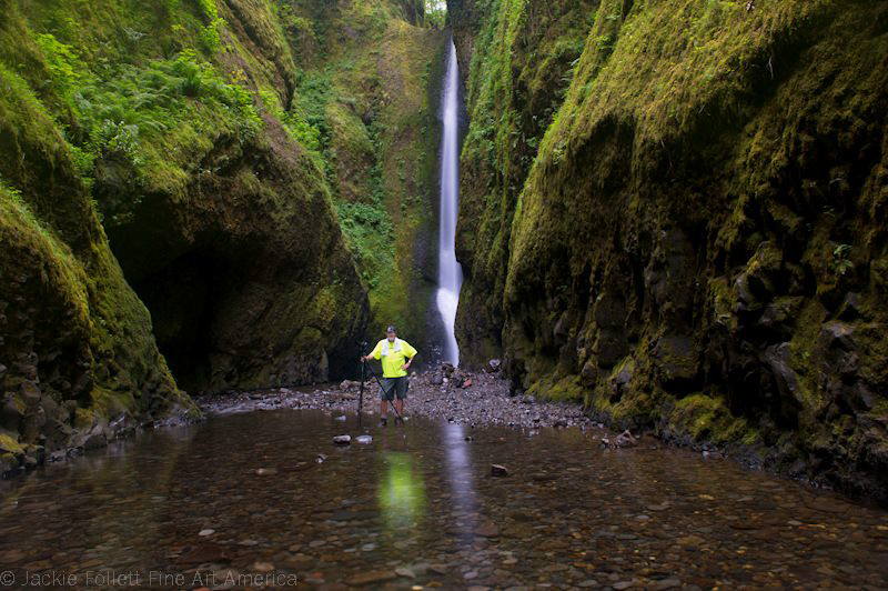
[[[589, 17], [515, 203], [463, 184], [461, 224], [474, 207], [511, 227], [482, 305], [515, 388], [885, 502], [888, 7]], [[464, 243], [473, 273], [494, 244]]]

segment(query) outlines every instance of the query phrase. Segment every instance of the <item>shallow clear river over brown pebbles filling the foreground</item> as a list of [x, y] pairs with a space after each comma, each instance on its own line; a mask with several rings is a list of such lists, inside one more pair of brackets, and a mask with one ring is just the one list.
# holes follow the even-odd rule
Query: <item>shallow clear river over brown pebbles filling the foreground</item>
[[730, 461], [575, 428], [369, 431], [213, 417], [3, 482], [0, 587], [888, 587], [888, 513]]

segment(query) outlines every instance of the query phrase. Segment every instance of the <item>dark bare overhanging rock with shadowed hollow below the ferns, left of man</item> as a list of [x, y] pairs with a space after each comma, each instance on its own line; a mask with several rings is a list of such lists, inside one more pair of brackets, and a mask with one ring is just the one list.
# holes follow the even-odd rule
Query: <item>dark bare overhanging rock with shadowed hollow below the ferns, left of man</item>
[[366, 294], [329, 196], [274, 127], [255, 143], [218, 138], [186, 199], [147, 194], [109, 229], [189, 390], [326, 381], [353, 363]]

